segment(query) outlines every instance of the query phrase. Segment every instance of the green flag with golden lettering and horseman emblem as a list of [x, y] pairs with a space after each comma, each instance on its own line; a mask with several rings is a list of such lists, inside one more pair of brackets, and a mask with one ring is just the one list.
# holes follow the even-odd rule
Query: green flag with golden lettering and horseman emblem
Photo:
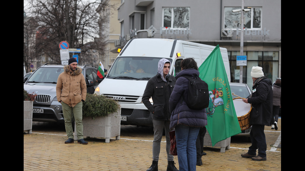
[[219, 45], [198, 70], [199, 77], [209, 86], [210, 101], [207, 108], [206, 128], [214, 146], [221, 140], [241, 133]]

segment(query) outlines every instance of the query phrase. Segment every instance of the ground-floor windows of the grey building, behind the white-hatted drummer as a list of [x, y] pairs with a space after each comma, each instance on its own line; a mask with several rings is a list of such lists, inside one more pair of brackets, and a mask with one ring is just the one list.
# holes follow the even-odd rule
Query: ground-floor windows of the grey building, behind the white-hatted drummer
[[[239, 83], [240, 66], [236, 66], [236, 56], [240, 55], [239, 51], [228, 51], [231, 82]], [[276, 80], [279, 73], [279, 52], [277, 51], [247, 51], [243, 55], [247, 56], [247, 66], [243, 66], [242, 82], [248, 84], [251, 88], [253, 81], [251, 77], [251, 69], [253, 66], [263, 68], [265, 77], [273, 81]]]

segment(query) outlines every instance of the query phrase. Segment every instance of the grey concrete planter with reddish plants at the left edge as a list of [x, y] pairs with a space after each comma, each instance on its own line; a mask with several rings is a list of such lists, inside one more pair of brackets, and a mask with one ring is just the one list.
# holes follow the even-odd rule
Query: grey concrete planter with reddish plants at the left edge
[[23, 101], [23, 132], [32, 133], [33, 101]]

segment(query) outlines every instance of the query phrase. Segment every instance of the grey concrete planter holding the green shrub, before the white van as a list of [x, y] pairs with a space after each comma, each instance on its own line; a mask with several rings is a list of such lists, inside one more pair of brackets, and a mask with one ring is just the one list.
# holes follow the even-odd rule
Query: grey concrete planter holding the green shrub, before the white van
[[[110, 137], [120, 140], [121, 108], [116, 113], [99, 116], [95, 119], [83, 117], [82, 123], [84, 137], [106, 138], [105, 142], [107, 143], [110, 142]], [[74, 130], [74, 140], [77, 140], [76, 126]]]

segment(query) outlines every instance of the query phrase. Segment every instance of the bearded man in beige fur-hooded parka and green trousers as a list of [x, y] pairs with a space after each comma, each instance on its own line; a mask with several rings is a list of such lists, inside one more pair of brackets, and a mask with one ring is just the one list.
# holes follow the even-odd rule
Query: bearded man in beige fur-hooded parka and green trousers
[[65, 144], [74, 142], [72, 128], [72, 111], [77, 131], [77, 143], [88, 144], [83, 136], [82, 125], [82, 102], [86, 100], [87, 85], [82, 74], [82, 69], [77, 67], [75, 58], [70, 58], [68, 65], [63, 67], [64, 71], [59, 74], [56, 84], [56, 97], [63, 108], [63, 117], [68, 140]]

